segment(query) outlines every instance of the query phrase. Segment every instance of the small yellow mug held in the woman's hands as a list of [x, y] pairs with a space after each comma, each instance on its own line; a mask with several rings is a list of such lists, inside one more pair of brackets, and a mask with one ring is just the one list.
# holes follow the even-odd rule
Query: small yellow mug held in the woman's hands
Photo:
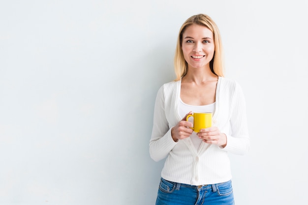
[[212, 112], [194, 112], [192, 115], [187, 115], [186, 121], [189, 117], [193, 117], [193, 130], [199, 132], [202, 128], [212, 127]]

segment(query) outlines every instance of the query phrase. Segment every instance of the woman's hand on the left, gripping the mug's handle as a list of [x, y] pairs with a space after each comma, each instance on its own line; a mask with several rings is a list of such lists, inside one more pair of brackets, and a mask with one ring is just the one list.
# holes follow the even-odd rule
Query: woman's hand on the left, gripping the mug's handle
[[185, 139], [191, 135], [193, 130], [190, 128], [192, 127], [192, 123], [189, 121], [186, 121], [187, 115], [191, 115], [192, 112], [190, 111], [185, 115], [185, 117], [171, 129], [171, 136], [172, 139], [177, 142], [179, 139]]

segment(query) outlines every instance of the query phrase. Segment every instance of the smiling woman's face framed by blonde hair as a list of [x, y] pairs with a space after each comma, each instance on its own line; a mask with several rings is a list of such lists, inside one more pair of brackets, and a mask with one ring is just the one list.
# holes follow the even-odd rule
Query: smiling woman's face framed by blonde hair
[[213, 32], [206, 26], [188, 26], [183, 33], [182, 51], [188, 69], [210, 68], [215, 51]]

